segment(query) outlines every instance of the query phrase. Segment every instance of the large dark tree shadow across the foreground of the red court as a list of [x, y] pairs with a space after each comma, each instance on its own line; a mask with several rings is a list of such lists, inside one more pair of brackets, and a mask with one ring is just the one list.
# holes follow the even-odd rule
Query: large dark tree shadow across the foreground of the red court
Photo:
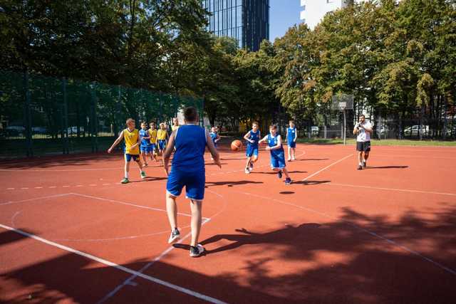
[[[366, 231], [408, 244], [435, 263]], [[11, 238], [7, 235], [0, 234]], [[456, 269], [455, 235], [456, 207], [451, 202], [442, 203], [432, 216], [408, 211], [394, 219], [345, 208], [340, 219], [324, 224], [284, 225], [272, 231], [247, 227], [217, 234], [202, 241], [206, 256], [189, 260], [184, 268], [176, 265], [178, 261], [157, 261], [145, 274], [227, 303], [456, 303], [456, 275], [451, 273]], [[175, 247], [183, 250], [173, 255], [190, 259], [188, 246]], [[250, 253], [245, 255], [241, 248]], [[116, 250], [131, 254], [127, 247]], [[220, 258], [232, 262], [219, 263], [217, 271], [211, 268], [211, 275], [204, 274], [205, 267]], [[138, 271], [150, 261], [133, 258], [121, 266]], [[199, 264], [199, 271], [189, 270], [192, 263]], [[284, 263], [294, 267], [279, 271]], [[200, 302], [145, 278], [122, 285], [130, 273], [76, 253], [61, 251], [52, 258], [41, 256], [36, 263], [7, 268], [0, 272], [4, 303], [98, 303], [118, 286], [107, 303]]]

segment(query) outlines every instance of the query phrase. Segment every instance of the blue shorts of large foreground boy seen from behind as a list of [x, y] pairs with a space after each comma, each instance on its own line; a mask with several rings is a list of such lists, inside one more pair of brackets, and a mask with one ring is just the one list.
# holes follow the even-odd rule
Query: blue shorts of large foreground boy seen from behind
[[171, 167], [171, 173], [166, 183], [166, 191], [172, 196], [180, 196], [182, 188], [185, 186], [187, 199], [202, 201], [204, 199], [205, 182], [204, 169], [198, 172], [183, 172]]

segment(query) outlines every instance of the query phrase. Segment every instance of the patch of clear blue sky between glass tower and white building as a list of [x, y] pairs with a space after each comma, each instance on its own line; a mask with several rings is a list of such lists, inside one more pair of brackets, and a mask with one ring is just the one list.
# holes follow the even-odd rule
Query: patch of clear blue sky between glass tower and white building
[[269, 0], [269, 41], [284, 36], [290, 26], [299, 24], [300, 0]]

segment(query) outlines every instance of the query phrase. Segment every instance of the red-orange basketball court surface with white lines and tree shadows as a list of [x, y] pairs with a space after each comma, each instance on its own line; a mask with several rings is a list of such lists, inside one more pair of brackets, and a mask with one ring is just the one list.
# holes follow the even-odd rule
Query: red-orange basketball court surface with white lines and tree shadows
[[167, 244], [166, 177], [120, 154], [0, 164], [2, 303], [456, 303], [456, 149], [298, 145], [286, 186], [260, 152], [207, 158], [190, 258]]

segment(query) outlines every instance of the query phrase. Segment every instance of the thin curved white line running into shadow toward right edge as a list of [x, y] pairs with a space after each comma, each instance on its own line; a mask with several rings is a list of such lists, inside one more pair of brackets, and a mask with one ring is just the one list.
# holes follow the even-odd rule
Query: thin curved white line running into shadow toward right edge
[[451, 273], [452, 275], [456, 276], [456, 271], [451, 269], [451, 268], [448, 268], [447, 266], [444, 266], [436, 261], [433, 261], [431, 258], [427, 258], [427, 256], [423, 256], [421, 253], [419, 253], [418, 251], [414, 251], [413, 249], [410, 249], [408, 248], [407, 246], [403, 246], [403, 245], [400, 245], [400, 243], [396, 243], [395, 241], [393, 240], [390, 240], [388, 238], [386, 238], [385, 236], [380, 236], [380, 234], [375, 234], [375, 232], [373, 231], [370, 231], [368, 229], [365, 229], [365, 228], [362, 228], [361, 226], [358, 226], [356, 224], [353, 224], [351, 223], [350, 221], [346, 221], [346, 220], [343, 220], [343, 219], [337, 219], [336, 217], [334, 216], [330, 216], [328, 214], [325, 214], [324, 212], [321, 212], [321, 211], [317, 211], [315, 209], [311, 209], [311, 208], [307, 208], [307, 207], [304, 207], [304, 206], [299, 206], [299, 205], [296, 205], [296, 204], [292, 204], [292, 203], [289, 203], [288, 201], [281, 201], [280, 199], [271, 199], [270, 197], [267, 197], [267, 196], [261, 196], [261, 195], [258, 195], [258, 194], [252, 194], [252, 193], [249, 193], [249, 192], [239, 192], [239, 191], [236, 191], [237, 193], [242, 193], [242, 194], [245, 194], [245, 195], [248, 195], [248, 196], [256, 196], [258, 197], [259, 199], [267, 199], [267, 200], [270, 200], [270, 201], [276, 201], [277, 203], [279, 204], [284, 204], [284, 205], [288, 205], [288, 206], [294, 206], [296, 208], [299, 208], [299, 209], [303, 209], [303, 210], [306, 210], [306, 211], [309, 211], [311, 213], [314, 213], [314, 214], [318, 214], [320, 216], [324, 216], [326, 217], [327, 219], [331, 219], [333, 221], [341, 221], [345, 224], [347, 224], [348, 226], [352, 226], [353, 228], [355, 229], [358, 229], [358, 230], [361, 230], [361, 231], [364, 231], [366, 232], [367, 234], [371, 234], [371, 236], [375, 236], [376, 238], [378, 239], [381, 239], [383, 241], [386, 241], [390, 244], [393, 244], [394, 246], [398, 246], [399, 248], [402, 248], [404, 251], [408, 251], [409, 253], [412, 253], [413, 255], [415, 256], [418, 256], [420, 258], [423, 258], [423, 260], [425, 261], [428, 261], [432, 264], [434, 264], [435, 266], [437, 266], [438, 268], [441, 268], [449, 273]]

